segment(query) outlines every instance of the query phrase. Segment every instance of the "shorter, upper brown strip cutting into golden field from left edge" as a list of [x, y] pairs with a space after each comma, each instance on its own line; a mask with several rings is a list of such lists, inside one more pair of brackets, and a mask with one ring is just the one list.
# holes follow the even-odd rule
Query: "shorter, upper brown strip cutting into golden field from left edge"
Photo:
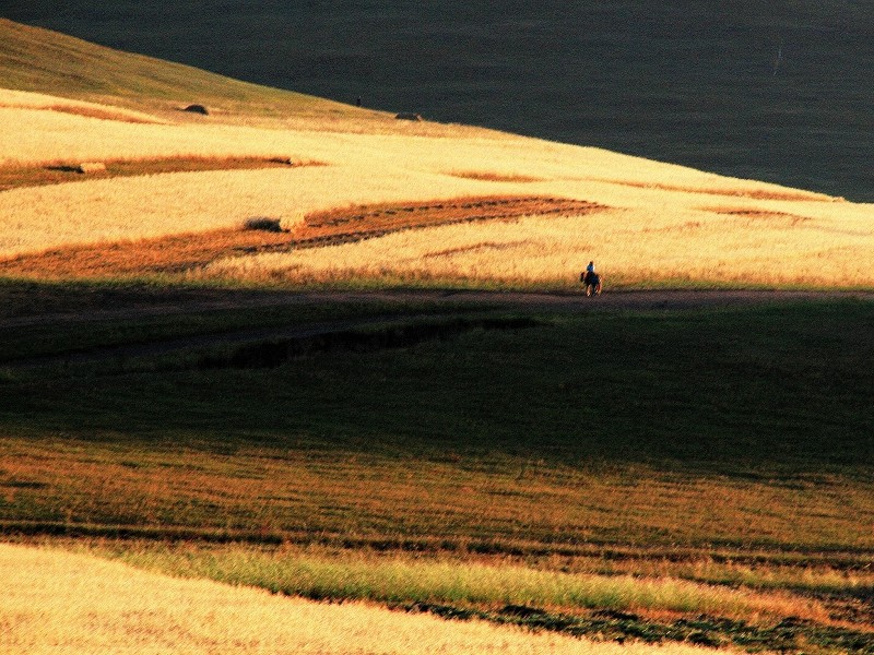
[[324, 166], [320, 162], [296, 160], [288, 157], [167, 157], [160, 159], [107, 160], [96, 164], [105, 169], [84, 172], [85, 162], [55, 162], [39, 166], [0, 168], [0, 191], [26, 187], [66, 184], [94, 179], [158, 175], [162, 172], [202, 172], [208, 170], [257, 170]]

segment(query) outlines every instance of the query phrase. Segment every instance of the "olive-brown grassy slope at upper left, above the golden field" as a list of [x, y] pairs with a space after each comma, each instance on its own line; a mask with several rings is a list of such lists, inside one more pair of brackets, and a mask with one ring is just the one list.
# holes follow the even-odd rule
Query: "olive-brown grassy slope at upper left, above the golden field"
[[203, 104], [249, 114], [346, 114], [349, 106], [248, 84], [0, 19], [0, 86], [154, 108]]

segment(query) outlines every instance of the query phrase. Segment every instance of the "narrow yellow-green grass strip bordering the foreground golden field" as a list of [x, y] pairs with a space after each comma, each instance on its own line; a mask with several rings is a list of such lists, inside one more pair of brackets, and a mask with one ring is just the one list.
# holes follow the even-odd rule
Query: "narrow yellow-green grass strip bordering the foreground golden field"
[[822, 604], [802, 596], [736, 591], [668, 576], [569, 574], [512, 562], [494, 565], [246, 547], [164, 549], [144, 546], [117, 557], [150, 570], [211, 577], [316, 599], [449, 604], [493, 609], [524, 605], [551, 611], [609, 609], [650, 616], [706, 614], [748, 622], [779, 621], [787, 617], [829, 620]]

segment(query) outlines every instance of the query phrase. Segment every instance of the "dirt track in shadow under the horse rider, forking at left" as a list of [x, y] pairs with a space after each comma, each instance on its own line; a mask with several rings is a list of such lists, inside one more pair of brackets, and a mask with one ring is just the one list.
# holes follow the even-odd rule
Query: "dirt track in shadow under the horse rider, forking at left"
[[[0, 318], [0, 343], [3, 333], [47, 326], [82, 329], [117, 321], [146, 320], [156, 317], [198, 314], [210, 311], [293, 308], [317, 303], [378, 306], [380, 311], [362, 318], [333, 321], [309, 321], [293, 325], [241, 329], [198, 333], [154, 341], [98, 346], [61, 354], [3, 358], [0, 366], [29, 368], [52, 364], [81, 364], [99, 360], [122, 360], [132, 357], [161, 356], [174, 352], [206, 349], [215, 346], [243, 346], [256, 343], [331, 344], [347, 338], [356, 331], [376, 327], [410, 330], [424, 324], [449, 324], [460, 330], [483, 326], [483, 321], [468, 319], [476, 312], [511, 312], [536, 314], [600, 311], [694, 311], [698, 309], [740, 308], [766, 303], [787, 303], [817, 299], [874, 299], [871, 291], [790, 291], [790, 290], [619, 290], [605, 291], [598, 298], [582, 293], [523, 293], [482, 290], [383, 290], [383, 291], [261, 291], [200, 289], [190, 297], [179, 295], [162, 302], [152, 298], [147, 305], [86, 309], [63, 313], [42, 313]], [[397, 305], [397, 310], [392, 308]], [[411, 311], [411, 305], [427, 310]], [[460, 322], [461, 321], [461, 322]], [[464, 322], [466, 321], [466, 322]], [[463, 322], [463, 324], [462, 324]], [[333, 340], [333, 341], [332, 341]]]

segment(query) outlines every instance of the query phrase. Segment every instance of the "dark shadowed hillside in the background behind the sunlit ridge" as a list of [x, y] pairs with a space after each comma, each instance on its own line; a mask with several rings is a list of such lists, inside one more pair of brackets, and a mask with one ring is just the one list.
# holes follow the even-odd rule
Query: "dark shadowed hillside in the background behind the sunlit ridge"
[[250, 82], [874, 201], [874, 4], [8, 0]]

